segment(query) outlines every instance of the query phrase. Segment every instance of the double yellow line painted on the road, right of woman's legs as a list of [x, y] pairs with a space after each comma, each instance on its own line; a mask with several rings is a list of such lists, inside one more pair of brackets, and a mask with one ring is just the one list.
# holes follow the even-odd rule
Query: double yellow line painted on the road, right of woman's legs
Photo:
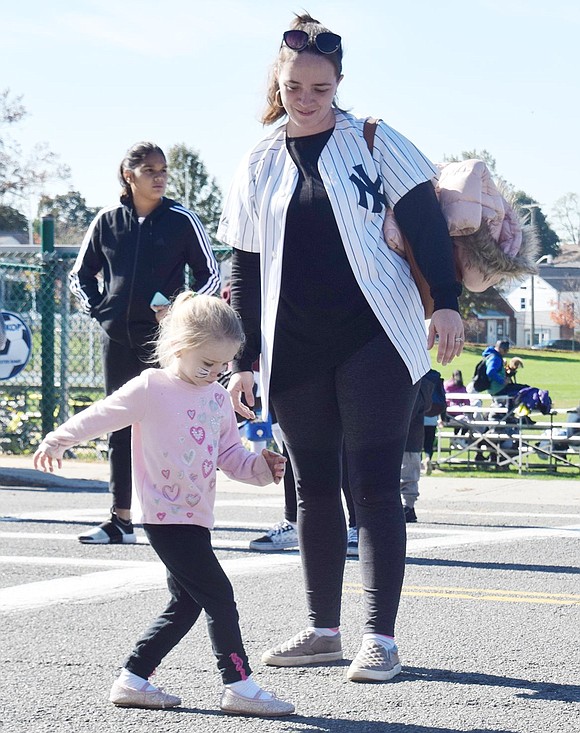
[[[360, 583], [345, 583], [346, 593], [362, 593]], [[462, 588], [455, 586], [405, 585], [403, 596], [429, 598], [458, 598], [476, 601], [501, 601], [504, 603], [543, 603], [558, 606], [580, 605], [580, 595], [575, 593], [538, 593], [492, 588]]]

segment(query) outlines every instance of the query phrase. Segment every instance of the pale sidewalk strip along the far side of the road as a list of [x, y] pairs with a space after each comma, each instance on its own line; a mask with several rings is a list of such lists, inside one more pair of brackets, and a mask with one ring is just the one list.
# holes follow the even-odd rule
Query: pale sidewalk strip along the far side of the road
[[[251, 486], [232, 481], [218, 471], [218, 490], [244, 494], [280, 493], [281, 486]], [[77, 487], [79, 491], [107, 491], [107, 461], [83, 462], [66, 460], [54, 474], [35, 471], [32, 456], [0, 455], [0, 486], [33, 486], [38, 488]], [[580, 481], [549, 478], [452, 478], [422, 476], [419, 484], [421, 502], [429, 500], [510, 504], [560, 504], [580, 511]]]

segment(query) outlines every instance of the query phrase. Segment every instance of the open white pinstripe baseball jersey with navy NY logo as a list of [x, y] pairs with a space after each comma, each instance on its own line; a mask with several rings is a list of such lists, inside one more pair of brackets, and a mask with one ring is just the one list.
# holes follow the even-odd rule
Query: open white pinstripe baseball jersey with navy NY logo
[[[382, 121], [371, 157], [363, 137], [364, 119], [338, 110], [335, 117], [334, 131], [318, 161], [320, 176], [354, 276], [416, 382], [430, 368], [424, 310], [409, 265], [385, 244], [384, 200], [393, 207], [437, 171], [411, 142]], [[285, 130], [285, 125], [278, 127], [243, 159], [217, 235], [232, 247], [260, 254], [260, 376], [266, 403], [286, 212], [298, 180]]]

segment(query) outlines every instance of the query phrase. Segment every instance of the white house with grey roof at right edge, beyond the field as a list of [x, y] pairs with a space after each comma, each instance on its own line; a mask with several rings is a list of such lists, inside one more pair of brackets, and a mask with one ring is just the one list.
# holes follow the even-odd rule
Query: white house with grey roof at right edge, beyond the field
[[[513, 341], [518, 346], [573, 338], [580, 331], [580, 262], [540, 265], [537, 275], [523, 280], [505, 297], [515, 312]], [[569, 325], [554, 320], [558, 313], [569, 314]]]

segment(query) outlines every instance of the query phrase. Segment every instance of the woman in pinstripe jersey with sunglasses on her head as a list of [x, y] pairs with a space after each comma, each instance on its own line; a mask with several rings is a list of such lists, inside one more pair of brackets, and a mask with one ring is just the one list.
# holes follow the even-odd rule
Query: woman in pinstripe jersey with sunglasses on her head
[[[346, 527], [341, 448], [359, 528], [366, 623], [347, 672], [355, 681], [401, 671], [394, 641], [405, 565], [401, 459], [427, 349], [438, 361], [463, 346], [452, 244], [431, 179], [434, 166], [379, 122], [336, 106], [340, 36], [308, 15], [284, 33], [265, 124], [281, 120], [244, 158], [218, 236], [233, 246], [231, 302], [246, 346], [234, 364], [234, 406], [262, 400], [284, 433], [298, 491], [298, 534], [309, 625], [263, 656], [299, 666], [342, 658], [339, 631]], [[428, 332], [407, 263], [385, 245], [386, 207], [409, 239], [435, 301]]]

